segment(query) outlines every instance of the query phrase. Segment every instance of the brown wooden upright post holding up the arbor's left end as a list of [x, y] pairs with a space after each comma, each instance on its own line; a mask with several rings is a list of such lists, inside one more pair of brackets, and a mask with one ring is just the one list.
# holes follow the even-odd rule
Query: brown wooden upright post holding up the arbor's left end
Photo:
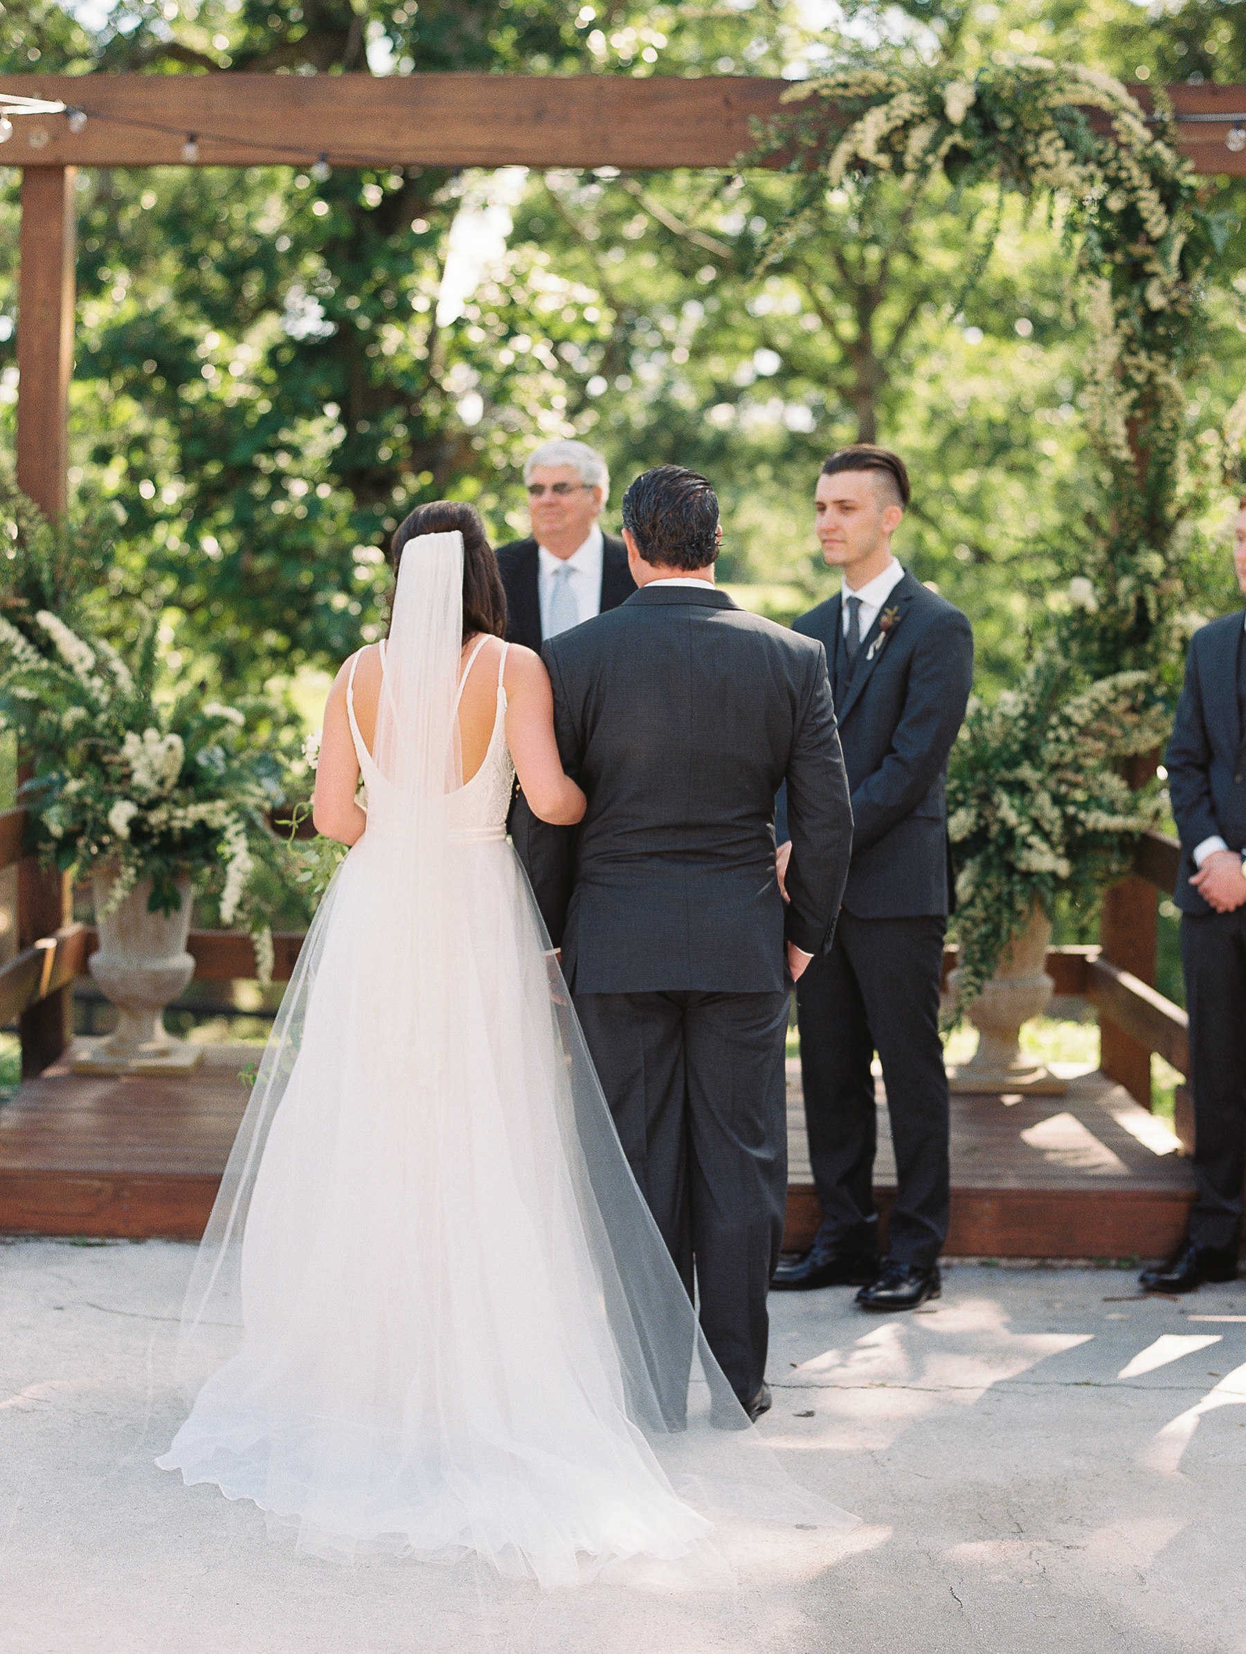
[[[74, 167], [26, 167], [22, 175], [22, 275], [18, 289], [17, 480], [58, 518], [68, 471], [69, 375], [74, 314]], [[69, 882], [18, 863], [18, 946], [30, 948], [69, 923]], [[73, 1037], [73, 987], [66, 984], [18, 1019], [22, 1073], [40, 1073]]]

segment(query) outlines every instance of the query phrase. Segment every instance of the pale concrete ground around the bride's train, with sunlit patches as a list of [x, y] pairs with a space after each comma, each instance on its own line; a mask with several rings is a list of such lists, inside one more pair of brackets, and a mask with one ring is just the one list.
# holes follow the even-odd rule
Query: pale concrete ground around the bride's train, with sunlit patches
[[3, 1654], [1246, 1651], [1246, 1284], [963, 1264], [917, 1315], [774, 1297], [764, 1432], [864, 1527], [731, 1591], [541, 1598], [300, 1558], [156, 1470], [190, 1257], [0, 1244]]

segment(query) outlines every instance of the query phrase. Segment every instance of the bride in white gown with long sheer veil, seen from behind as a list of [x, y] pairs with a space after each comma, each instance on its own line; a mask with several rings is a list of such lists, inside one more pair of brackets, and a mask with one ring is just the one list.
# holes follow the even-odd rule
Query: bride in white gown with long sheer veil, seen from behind
[[629, 1558], [702, 1576], [740, 1518], [846, 1527], [698, 1333], [506, 840], [516, 764], [549, 820], [584, 797], [544, 667], [491, 635], [480, 519], [424, 506], [395, 546], [387, 647], [324, 723], [318, 825], [352, 847], [195, 1260], [195, 1399], [157, 1464], [318, 1555], [477, 1553], [544, 1588]]

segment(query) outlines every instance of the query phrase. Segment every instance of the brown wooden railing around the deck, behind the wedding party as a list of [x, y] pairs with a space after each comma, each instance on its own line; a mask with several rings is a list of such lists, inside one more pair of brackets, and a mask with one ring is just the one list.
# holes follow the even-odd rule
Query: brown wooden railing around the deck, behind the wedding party
[[[17, 958], [0, 968], [0, 1025], [18, 1019], [22, 1030], [22, 1072], [40, 1073], [55, 1062], [71, 1037], [69, 994], [73, 979], [86, 969], [89, 954], [96, 949], [96, 933], [88, 925], [61, 923], [48, 935], [30, 935], [23, 911], [38, 913], [50, 906], [48, 875], [22, 855], [25, 835], [25, 810], [0, 814], [0, 868], [18, 868], [18, 944]], [[1135, 887], [1132, 898], [1148, 901], [1155, 908], [1155, 890], [1172, 890], [1177, 883], [1180, 845], [1162, 834], [1145, 834], [1138, 842], [1133, 862]], [[55, 880], [51, 882], [55, 883]], [[1122, 887], [1117, 887], [1120, 890]], [[25, 896], [25, 900], [23, 900]], [[61, 898], [65, 900], [65, 898]], [[23, 933], [23, 926], [25, 931]], [[1145, 918], [1140, 928], [1145, 930]], [[1153, 926], [1152, 926], [1153, 933]], [[273, 936], [273, 978], [290, 979], [303, 935], [286, 931]], [[255, 976], [252, 939], [245, 931], [190, 931], [187, 943], [195, 959], [195, 974], [208, 981], [243, 981]], [[948, 949], [945, 968], [955, 964], [955, 949]], [[1057, 994], [1084, 997], [1099, 1012], [1100, 1029], [1110, 1029], [1117, 1050], [1124, 1050], [1129, 1075], [1112, 1072], [1102, 1064], [1109, 1078], [1125, 1085], [1137, 1100], [1150, 1108], [1150, 1055], [1158, 1052], [1178, 1073], [1190, 1073], [1190, 1030], [1185, 1011], [1157, 992], [1155, 953], [1138, 971], [1137, 958], [1117, 958], [1110, 935], [1099, 948], [1052, 948], [1047, 953], [1047, 971], [1056, 979]], [[1145, 973], [1145, 974], [1143, 974]], [[51, 1016], [48, 1007], [55, 1007]], [[43, 1016], [38, 1016], [43, 1012]], [[35, 1014], [35, 1016], [31, 1016]], [[1104, 1042], [1107, 1044], [1107, 1042]], [[1143, 1068], [1145, 1064], [1145, 1068]], [[1145, 1073], [1145, 1083], [1142, 1075]], [[1188, 1098], [1178, 1097], [1178, 1135], [1183, 1111], [1188, 1115]]]

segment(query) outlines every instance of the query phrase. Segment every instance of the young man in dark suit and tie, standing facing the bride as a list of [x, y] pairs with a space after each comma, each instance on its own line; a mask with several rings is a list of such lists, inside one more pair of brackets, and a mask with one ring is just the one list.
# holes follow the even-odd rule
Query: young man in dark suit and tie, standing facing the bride
[[[912, 1310], [938, 1297], [950, 1199], [950, 1103], [938, 1037], [951, 900], [945, 781], [973, 681], [973, 632], [960, 609], [892, 556], [907, 504], [908, 473], [885, 448], [859, 443], [826, 461], [816, 531], [844, 584], [796, 622], [831, 662], [854, 827], [834, 944], [796, 991], [822, 1224], [808, 1254], [779, 1265], [774, 1287], [859, 1285], [857, 1303], [867, 1310]], [[779, 865], [783, 857], [781, 847]], [[875, 1050], [897, 1168], [882, 1265], [874, 1209]]]

